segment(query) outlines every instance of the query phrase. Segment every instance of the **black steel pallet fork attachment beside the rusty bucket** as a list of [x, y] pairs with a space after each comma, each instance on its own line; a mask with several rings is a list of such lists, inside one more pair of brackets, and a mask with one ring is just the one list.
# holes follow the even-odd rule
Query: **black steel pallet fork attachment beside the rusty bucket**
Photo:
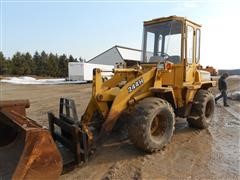
[[[49, 112], [48, 120], [49, 130], [63, 157], [64, 169], [87, 162], [88, 139], [81, 128], [74, 100], [60, 98], [59, 117]], [[72, 156], [69, 157], [69, 153]]]

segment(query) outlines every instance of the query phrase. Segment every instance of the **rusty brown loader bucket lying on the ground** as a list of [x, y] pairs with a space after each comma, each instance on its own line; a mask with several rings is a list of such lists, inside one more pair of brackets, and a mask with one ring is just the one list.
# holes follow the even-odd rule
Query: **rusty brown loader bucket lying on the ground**
[[0, 179], [58, 179], [60, 153], [49, 131], [26, 117], [28, 107], [0, 101]]

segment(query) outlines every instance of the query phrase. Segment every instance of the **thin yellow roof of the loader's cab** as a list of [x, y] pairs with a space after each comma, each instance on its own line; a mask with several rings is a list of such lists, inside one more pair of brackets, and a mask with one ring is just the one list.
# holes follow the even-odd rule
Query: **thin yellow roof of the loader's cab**
[[194, 24], [195, 26], [201, 27], [200, 24], [197, 24], [197, 23], [195, 23], [193, 21], [190, 21], [187, 18], [181, 17], [181, 16], [168, 16], [168, 17], [161, 17], [161, 18], [152, 19], [152, 20], [149, 20], [149, 21], [144, 21], [144, 26], [151, 25], [151, 24], [157, 24], [157, 23], [165, 22], [165, 21], [171, 21], [171, 20], [179, 20], [179, 21], [182, 21], [182, 22], [187, 21], [187, 22], [190, 22], [190, 23]]

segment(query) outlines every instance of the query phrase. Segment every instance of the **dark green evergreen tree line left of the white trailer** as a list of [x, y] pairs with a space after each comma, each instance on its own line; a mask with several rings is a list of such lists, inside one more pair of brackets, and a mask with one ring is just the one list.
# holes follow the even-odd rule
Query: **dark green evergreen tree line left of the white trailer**
[[85, 60], [72, 55], [47, 54], [45, 51], [36, 51], [33, 56], [28, 52], [16, 52], [11, 58], [6, 58], [0, 51], [0, 75], [67, 77], [68, 62], [79, 61]]

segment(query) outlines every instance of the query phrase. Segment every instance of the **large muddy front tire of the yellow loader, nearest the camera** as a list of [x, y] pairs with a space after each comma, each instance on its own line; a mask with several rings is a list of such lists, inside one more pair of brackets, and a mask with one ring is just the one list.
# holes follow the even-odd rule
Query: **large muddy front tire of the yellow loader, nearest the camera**
[[174, 132], [175, 115], [165, 100], [149, 97], [138, 102], [129, 114], [128, 135], [132, 143], [146, 152], [161, 150]]

